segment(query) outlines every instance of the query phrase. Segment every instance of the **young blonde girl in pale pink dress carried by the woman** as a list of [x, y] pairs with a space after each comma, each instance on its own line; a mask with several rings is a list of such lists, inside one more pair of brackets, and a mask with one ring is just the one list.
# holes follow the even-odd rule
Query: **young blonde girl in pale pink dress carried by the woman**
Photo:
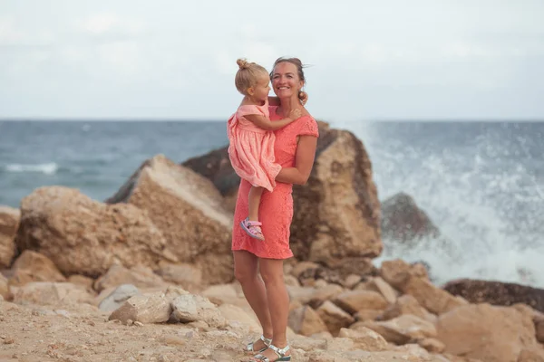
[[[287, 119], [270, 121], [268, 92], [270, 76], [255, 62], [238, 59], [235, 77], [237, 90], [244, 95], [236, 113], [228, 119], [228, 157], [232, 167], [251, 185], [248, 196], [248, 217], [240, 223], [249, 236], [264, 241], [258, 222], [258, 206], [263, 190], [272, 191], [281, 166], [275, 163], [274, 130], [281, 129], [302, 115], [293, 110]], [[303, 92], [302, 92], [303, 93]], [[306, 93], [301, 94], [306, 101]]]

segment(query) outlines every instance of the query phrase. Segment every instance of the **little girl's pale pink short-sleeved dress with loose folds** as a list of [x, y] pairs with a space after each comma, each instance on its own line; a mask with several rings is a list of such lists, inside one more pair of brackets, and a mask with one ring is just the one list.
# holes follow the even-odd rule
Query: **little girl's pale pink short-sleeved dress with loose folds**
[[228, 119], [228, 157], [238, 176], [253, 186], [272, 191], [281, 170], [274, 157], [276, 137], [274, 132], [260, 129], [246, 119], [251, 114], [268, 118], [268, 102], [264, 106], [240, 106]]

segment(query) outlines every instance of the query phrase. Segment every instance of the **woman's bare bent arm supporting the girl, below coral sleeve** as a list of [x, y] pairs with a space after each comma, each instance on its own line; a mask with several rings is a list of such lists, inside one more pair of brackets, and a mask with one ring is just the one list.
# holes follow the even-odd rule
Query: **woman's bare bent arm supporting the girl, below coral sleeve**
[[305, 185], [316, 157], [317, 138], [300, 136], [296, 146], [295, 167], [282, 168], [276, 176], [277, 182]]

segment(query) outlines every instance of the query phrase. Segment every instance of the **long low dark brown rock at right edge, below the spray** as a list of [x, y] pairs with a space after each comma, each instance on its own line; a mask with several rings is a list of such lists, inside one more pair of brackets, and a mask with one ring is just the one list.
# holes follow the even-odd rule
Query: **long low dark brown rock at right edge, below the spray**
[[544, 290], [527, 285], [462, 279], [448, 282], [443, 289], [453, 295], [460, 295], [471, 303], [490, 303], [498, 306], [523, 303], [544, 312]]

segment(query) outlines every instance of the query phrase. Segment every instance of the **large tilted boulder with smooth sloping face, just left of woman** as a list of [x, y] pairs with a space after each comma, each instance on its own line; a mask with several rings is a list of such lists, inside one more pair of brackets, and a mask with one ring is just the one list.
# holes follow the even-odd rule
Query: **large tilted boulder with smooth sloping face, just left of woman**
[[203, 176], [158, 155], [145, 161], [107, 203], [136, 205], [149, 215], [179, 262], [192, 262], [203, 283], [232, 281], [232, 215]]

